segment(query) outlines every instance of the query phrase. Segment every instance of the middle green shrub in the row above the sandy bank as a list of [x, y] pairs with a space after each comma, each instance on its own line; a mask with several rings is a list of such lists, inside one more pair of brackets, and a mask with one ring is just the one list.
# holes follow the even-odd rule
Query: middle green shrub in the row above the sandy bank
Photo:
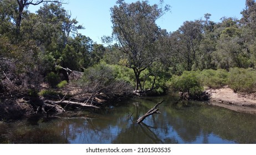
[[204, 86], [217, 89], [227, 85], [228, 72], [224, 69], [218, 70], [203, 70], [199, 78]]

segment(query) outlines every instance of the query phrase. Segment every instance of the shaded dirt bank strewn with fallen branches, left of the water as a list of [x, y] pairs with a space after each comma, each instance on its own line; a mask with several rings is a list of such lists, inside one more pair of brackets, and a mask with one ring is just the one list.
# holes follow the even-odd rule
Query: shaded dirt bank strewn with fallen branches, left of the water
[[[27, 93], [0, 93], [0, 122], [19, 120], [23, 117], [33, 117], [35, 114], [54, 116], [64, 112], [79, 110], [95, 111], [110, 104], [110, 101], [124, 96], [107, 96], [105, 94], [82, 93], [75, 86], [67, 85], [62, 89], [50, 89], [42, 85], [42, 93], [28, 95]], [[119, 97], [119, 98], [118, 98]]]

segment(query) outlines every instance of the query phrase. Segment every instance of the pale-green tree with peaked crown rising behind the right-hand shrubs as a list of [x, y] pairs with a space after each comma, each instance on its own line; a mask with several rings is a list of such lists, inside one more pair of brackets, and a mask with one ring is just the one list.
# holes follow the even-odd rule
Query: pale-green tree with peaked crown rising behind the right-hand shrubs
[[235, 18], [222, 18], [216, 32], [219, 37], [216, 51], [212, 53], [213, 63], [217, 68], [229, 69], [234, 67], [247, 68], [250, 65], [250, 52], [246, 50], [243, 29], [239, 20]]

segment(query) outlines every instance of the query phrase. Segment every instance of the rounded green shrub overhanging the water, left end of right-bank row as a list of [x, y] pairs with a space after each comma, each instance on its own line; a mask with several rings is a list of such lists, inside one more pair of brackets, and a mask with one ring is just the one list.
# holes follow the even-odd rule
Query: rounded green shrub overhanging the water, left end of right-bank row
[[181, 76], [173, 76], [169, 86], [173, 90], [178, 90], [182, 93], [187, 92], [192, 97], [199, 96], [203, 92], [203, 87], [196, 71], [184, 71]]

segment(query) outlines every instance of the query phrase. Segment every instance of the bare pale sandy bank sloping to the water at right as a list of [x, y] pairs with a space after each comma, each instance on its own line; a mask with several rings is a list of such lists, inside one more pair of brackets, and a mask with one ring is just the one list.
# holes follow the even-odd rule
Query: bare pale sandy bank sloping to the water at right
[[213, 106], [256, 115], [256, 93], [235, 93], [228, 86], [206, 91], [211, 95], [210, 103]]

